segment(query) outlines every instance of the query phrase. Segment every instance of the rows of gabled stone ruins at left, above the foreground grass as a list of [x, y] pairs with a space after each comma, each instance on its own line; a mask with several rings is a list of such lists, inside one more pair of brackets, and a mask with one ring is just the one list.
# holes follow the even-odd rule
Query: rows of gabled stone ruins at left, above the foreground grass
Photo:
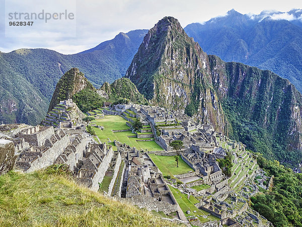
[[0, 129], [2, 137], [9, 138], [0, 142], [11, 154], [9, 165], [0, 162], [6, 164], [3, 173], [13, 167], [29, 173], [52, 164], [66, 164], [80, 184], [97, 191], [114, 156], [112, 146], [96, 143], [83, 130], [24, 124], [5, 125]]

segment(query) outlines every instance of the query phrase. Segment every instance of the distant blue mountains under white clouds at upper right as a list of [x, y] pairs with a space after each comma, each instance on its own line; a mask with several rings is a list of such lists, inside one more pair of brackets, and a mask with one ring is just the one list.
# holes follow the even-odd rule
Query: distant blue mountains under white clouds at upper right
[[208, 54], [271, 70], [302, 91], [302, 10], [259, 15], [231, 10], [184, 30]]

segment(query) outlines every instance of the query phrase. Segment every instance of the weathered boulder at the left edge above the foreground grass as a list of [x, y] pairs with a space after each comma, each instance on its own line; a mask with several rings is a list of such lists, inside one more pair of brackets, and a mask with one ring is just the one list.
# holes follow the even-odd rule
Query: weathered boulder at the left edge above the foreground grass
[[0, 175], [13, 169], [15, 164], [15, 146], [11, 140], [0, 139]]

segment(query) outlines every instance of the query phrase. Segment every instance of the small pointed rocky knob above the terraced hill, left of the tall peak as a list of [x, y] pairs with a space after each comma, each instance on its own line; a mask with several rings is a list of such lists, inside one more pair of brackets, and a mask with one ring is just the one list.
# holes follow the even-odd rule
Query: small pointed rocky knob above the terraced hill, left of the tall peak
[[72, 98], [72, 96], [85, 88], [96, 91], [82, 72], [72, 68], [66, 72], [58, 81], [52, 95], [48, 112], [51, 111], [60, 101]]

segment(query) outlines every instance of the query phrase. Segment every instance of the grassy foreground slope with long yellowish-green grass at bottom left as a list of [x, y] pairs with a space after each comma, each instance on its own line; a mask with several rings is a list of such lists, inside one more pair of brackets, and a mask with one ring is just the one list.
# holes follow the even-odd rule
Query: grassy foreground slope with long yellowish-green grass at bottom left
[[0, 226], [173, 226], [80, 187], [68, 177], [10, 172], [0, 176]]

